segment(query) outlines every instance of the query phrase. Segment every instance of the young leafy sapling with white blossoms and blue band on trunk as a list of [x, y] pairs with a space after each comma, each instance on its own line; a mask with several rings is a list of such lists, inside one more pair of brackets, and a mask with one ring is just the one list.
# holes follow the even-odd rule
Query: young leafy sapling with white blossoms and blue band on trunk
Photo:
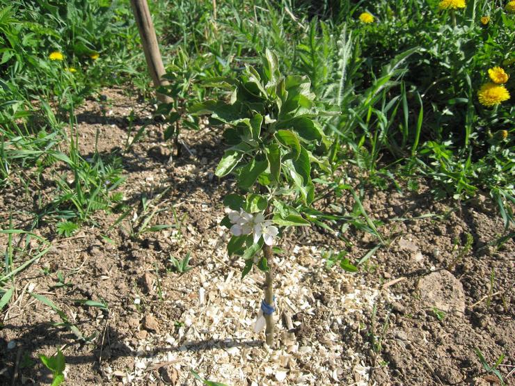
[[228, 149], [216, 175], [232, 174], [237, 191], [225, 196], [221, 224], [232, 234], [229, 255], [244, 259], [242, 277], [253, 266], [264, 272], [264, 300], [255, 331], [266, 325], [265, 337], [274, 346], [274, 249], [285, 227], [306, 226], [299, 211], [314, 196], [311, 170], [329, 170], [315, 156], [330, 145], [315, 118], [315, 95], [308, 77], [280, 74], [278, 58], [267, 50], [262, 68], [246, 66], [233, 86], [230, 102], [207, 101], [192, 108], [209, 113], [212, 124], [225, 127]]

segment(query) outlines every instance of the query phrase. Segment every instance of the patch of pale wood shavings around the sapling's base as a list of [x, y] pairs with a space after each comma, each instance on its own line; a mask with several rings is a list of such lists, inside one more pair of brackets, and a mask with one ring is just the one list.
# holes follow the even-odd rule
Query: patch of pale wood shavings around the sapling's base
[[[225, 250], [216, 248], [212, 254], [228, 262]], [[297, 258], [301, 254], [317, 260], [315, 268], [299, 265]], [[148, 369], [171, 362], [181, 385], [195, 384], [190, 369], [228, 385], [367, 385], [370, 368], [364, 364], [365, 355], [342, 344], [338, 326], [344, 323], [346, 315], [348, 319], [349, 314], [370, 311], [379, 291], [365, 287], [363, 282], [353, 283], [351, 275], [342, 273], [338, 273], [337, 280], [351, 284], [352, 290], [335, 291], [328, 284], [332, 271], [324, 271], [317, 255], [315, 248], [295, 248], [294, 255], [274, 262], [278, 350], [269, 349], [263, 344], [262, 333], [253, 332], [262, 298], [262, 273], [253, 271], [241, 280], [239, 273], [226, 270], [221, 274], [220, 270], [214, 271], [216, 264], [206, 264], [207, 268], [198, 272], [202, 283], [202, 289], [196, 290], [199, 299], [182, 314], [184, 325], [173, 335], [161, 332], [138, 341], [133, 348], [134, 370], [126, 373], [122, 382], [154, 382], [155, 373]], [[279, 315], [284, 309], [290, 313], [316, 314], [321, 305], [306, 280], [312, 275], [322, 280], [322, 287], [317, 286], [316, 290], [331, 297], [326, 307], [331, 316], [317, 319], [309, 326], [316, 332], [312, 339], [298, 341]], [[299, 327], [301, 323], [295, 324]], [[104, 373], [109, 379], [115, 376], [112, 371]]]

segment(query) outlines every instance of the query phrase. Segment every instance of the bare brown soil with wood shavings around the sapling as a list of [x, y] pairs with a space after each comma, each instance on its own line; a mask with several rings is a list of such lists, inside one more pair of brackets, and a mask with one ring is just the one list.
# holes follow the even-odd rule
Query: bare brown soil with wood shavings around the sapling
[[[243, 264], [225, 252], [221, 201], [234, 187], [213, 174], [219, 134], [184, 133], [177, 158], [148, 106], [118, 89], [103, 95], [77, 112], [80, 152], [92, 156], [97, 137], [100, 154], [120, 155], [127, 182], [119, 190], [132, 209], [119, 223], [123, 211], [97, 212], [95, 226], [68, 238], [40, 221], [34, 233], [52, 248], [6, 284], [15, 296], [2, 314], [2, 385], [51, 383], [38, 355], [57, 348], [67, 385], [200, 384], [190, 369], [228, 385], [500, 385], [475, 348], [489, 364], [505, 355], [498, 369], [512, 382], [515, 243], [494, 245], [503, 227], [488, 199], [436, 202], [423, 181], [416, 192], [370, 188], [363, 206], [383, 221], [387, 247], [354, 274], [325, 268], [324, 256], [346, 250], [357, 262], [377, 246], [371, 234], [353, 226], [287, 232], [274, 262], [280, 349], [271, 350], [253, 332], [262, 275], [241, 280]], [[144, 136], [123, 152], [142, 125]], [[363, 177], [353, 170], [350, 181]], [[12, 216], [13, 228], [27, 229], [38, 199], [52, 199], [52, 181], [63, 172], [45, 171], [34, 191], [18, 181], [3, 188], [1, 228]], [[344, 192], [318, 205], [350, 214], [354, 199]], [[145, 232], [147, 219], [171, 227]], [[24, 246], [18, 235], [13, 241], [15, 266], [45, 246], [35, 239]], [[8, 250], [6, 235], [0, 247]], [[168, 259], [187, 254], [192, 269], [181, 275]], [[29, 292], [51, 300], [68, 325]]]

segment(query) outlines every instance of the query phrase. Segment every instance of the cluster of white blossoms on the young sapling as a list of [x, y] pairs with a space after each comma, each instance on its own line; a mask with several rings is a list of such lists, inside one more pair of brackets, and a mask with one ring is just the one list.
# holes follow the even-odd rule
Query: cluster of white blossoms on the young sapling
[[274, 244], [274, 237], [279, 230], [272, 225], [271, 220], [265, 220], [262, 213], [250, 214], [243, 209], [239, 211], [225, 209], [225, 212], [228, 214], [231, 224], [234, 224], [230, 227], [230, 232], [235, 236], [253, 233], [254, 243], [257, 243], [263, 236], [263, 241], [267, 246]]

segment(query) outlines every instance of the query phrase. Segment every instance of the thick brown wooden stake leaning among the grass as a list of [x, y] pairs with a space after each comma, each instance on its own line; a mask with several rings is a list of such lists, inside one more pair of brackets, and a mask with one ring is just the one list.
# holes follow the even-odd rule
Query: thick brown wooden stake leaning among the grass
[[[150, 72], [154, 87], [166, 86], [168, 81], [162, 78], [163, 75], [166, 74], [166, 71], [164, 70], [163, 60], [159, 53], [156, 31], [154, 30], [154, 24], [152, 24], [148, 3], [146, 0], [131, 0], [131, 6], [134, 19], [136, 19], [136, 24], [138, 24], [138, 31], [141, 37], [141, 43], [143, 44], [143, 51], [145, 52], [148, 72]], [[173, 102], [173, 99], [168, 97], [168, 95], [159, 93], [157, 93], [157, 99], [164, 103]]]

